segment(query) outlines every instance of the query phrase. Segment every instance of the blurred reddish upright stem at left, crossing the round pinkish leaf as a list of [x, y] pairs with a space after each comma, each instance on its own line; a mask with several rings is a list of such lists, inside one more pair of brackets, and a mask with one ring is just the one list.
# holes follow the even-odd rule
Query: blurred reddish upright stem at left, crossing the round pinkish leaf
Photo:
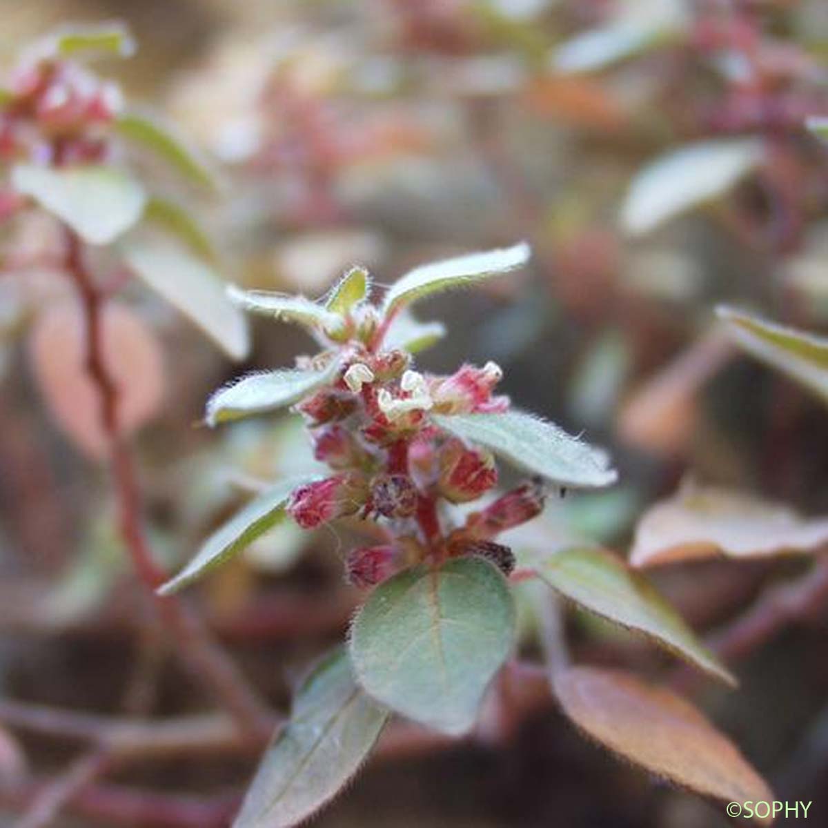
[[219, 647], [210, 641], [205, 628], [178, 599], [162, 598], [156, 589], [166, 575], [157, 565], [147, 544], [141, 522], [132, 453], [119, 431], [118, 387], [105, 361], [103, 342], [104, 299], [86, 269], [83, 245], [74, 230], [65, 227], [65, 267], [75, 282], [83, 307], [86, 331], [86, 366], [98, 391], [103, 429], [108, 437], [109, 463], [118, 501], [119, 527], [132, 565], [152, 599], [161, 623], [171, 633], [182, 662], [195, 681], [206, 682], [215, 698], [238, 723], [250, 739], [263, 742], [269, 734], [270, 714], [258, 694], [248, 686], [238, 668]]

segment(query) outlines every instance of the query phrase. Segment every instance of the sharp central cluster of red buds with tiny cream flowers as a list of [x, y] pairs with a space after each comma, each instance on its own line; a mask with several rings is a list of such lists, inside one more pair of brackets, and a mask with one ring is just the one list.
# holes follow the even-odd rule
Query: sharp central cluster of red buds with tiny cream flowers
[[544, 490], [530, 482], [471, 513], [460, 526], [450, 507], [470, 503], [498, 482], [493, 455], [440, 431], [431, 414], [503, 412], [508, 397], [494, 389], [503, 372], [495, 363], [465, 364], [450, 376], [420, 373], [402, 350], [369, 347], [377, 320], [363, 310], [351, 320], [352, 338], [339, 343], [335, 379], [296, 409], [310, 430], [317, 460], [335, 473], [296, 489], [287, 512], [304, 528], [354, 516], [385, 527], [388, 542], [354, 549], [346, 577], [366, 587], [402, 566], [449, 556], [480, 555], [510, 572], [500, 532], [535, 517]]

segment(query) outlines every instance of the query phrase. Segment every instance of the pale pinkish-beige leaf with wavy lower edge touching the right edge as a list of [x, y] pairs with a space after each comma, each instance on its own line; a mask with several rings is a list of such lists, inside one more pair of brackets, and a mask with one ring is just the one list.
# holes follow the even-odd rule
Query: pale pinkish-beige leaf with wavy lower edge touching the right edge
[[822, 546], [828, 546], [828, 517], [806, 520], [782, 503], [688, 483], [641, 518], [630, 562], [652, 566], [718, 553], [763, 557]]

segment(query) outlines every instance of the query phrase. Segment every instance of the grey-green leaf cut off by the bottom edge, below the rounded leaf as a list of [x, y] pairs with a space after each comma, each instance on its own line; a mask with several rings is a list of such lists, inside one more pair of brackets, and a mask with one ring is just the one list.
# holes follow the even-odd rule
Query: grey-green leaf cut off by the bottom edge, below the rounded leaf
[[387, 720], [388, 711], [354, 682], [348, 654], [336, 649], [300, 687], [233, 828], [288, 828], [305, 821], [357, 773]]

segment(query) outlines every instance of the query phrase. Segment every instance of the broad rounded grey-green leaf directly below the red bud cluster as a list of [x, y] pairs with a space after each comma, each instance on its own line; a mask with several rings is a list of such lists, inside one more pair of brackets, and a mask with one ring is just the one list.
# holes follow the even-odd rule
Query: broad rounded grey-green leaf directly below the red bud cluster
[[414, 566], [379, 585], [351, 627], [357, 680], [374, 699], [447, 734], [474, 724], [512, 648], [514, 601], [479, 557]]

